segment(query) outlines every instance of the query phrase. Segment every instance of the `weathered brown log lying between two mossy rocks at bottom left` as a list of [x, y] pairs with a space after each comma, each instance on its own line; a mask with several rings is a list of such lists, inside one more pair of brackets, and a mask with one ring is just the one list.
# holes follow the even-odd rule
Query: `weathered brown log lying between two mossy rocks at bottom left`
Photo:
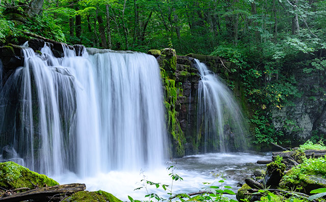
[[78, 191], [84, 191], [85, 189], [85, 184], [56, 185], [53, 187], [43, 187], [1, 197], [0, 201], [16, 202], [31, 199], [36, 201], [48, 201], [51, 199], [51, 197], [56, 197], [59, 195], [68, 196]]

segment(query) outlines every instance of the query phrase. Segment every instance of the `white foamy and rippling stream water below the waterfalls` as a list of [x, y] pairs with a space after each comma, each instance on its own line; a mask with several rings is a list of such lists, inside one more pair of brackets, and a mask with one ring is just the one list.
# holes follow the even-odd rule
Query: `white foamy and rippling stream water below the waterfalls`
[[[174, 159], [173, 162], [168, 162], [167, 166], [175, 165], [174, 172], [183, 178], [183, 181], [173, 183], [172, 193], [191, 193], [205, 189], [207, 185], [204, 182], [218, 183], [221, 176], [224, 176], [225, 183], [223, 186], [231, 186], [233, 191], [237, 191], [237, 183], [243, 183], [244, 179], [250, 177], [253, 171], [257, 168], [265, 169], [264, 165], [256, 164], [257, 160], [270, 160], [271, 154], [257, 153], [215, 153], [186, 156], [180, 159]], [[110, 192], [122, 200], [128, 200], [128, 195], [134, 199], [145, 199], [147, 194], [145, 189], [135, 190], [141, 187], [142, 179], [154, 183], [162, 183], [170, 185], [172, 179], [169, 176], [170, 171], [166, 167], [158, 167], [153, 170], [144, 170], [139, 172], [132, 171], [110, 171], [107, 173], [97, 173], [92, 178], [77, 178], [74, 174], [64, 176], [52, 176], [60, 184], [65, 183], [85, 183], [87, 190], [96, 191], [104, 190]], [[150, 193], [157, 193], [159, 196], [169, 197], [161, 187], [158, 189], [155, 186], [148, 186]]]

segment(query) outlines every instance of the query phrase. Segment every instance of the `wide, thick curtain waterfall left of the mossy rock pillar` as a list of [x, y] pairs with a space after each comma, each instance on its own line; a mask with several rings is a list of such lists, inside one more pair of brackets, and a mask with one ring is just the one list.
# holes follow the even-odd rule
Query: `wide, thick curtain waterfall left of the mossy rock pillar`
[[[163, 97], [156, 59], [143, 53], [63, 46], [55, 58], [25, 47], [24, 66], [0, 98], [0, 148], [45, 174], [80, 176], [154, 167], [166, 158]], [[14, 154], [14, 155], [12, 155]]]

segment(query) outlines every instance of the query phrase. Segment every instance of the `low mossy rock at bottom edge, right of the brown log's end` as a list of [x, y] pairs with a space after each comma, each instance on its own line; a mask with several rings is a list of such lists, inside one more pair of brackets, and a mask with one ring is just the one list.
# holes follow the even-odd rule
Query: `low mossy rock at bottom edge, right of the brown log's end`
[[105, 191], [79, 191], [67, 198], [63, 201], [65, 202], [90, 202], [90, 201], [98, 201], [98, 202], [121, 202], [119, 198], [115, 197], [111, 193], [107, 193]]

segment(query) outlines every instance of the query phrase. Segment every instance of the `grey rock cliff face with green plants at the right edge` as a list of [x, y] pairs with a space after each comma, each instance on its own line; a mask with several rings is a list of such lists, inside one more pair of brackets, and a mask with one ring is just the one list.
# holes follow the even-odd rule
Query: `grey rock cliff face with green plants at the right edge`
[[[311, 58], [303, 58], [310, 61]], [[307, 139], [326, 137], [326, 73], [310, 64], [293, 65], [288, 73], [294, 77], [298, 96], [282, 109], [271, 111], [273, 123], [284, 133], [284, 144], [297, 146]]]

